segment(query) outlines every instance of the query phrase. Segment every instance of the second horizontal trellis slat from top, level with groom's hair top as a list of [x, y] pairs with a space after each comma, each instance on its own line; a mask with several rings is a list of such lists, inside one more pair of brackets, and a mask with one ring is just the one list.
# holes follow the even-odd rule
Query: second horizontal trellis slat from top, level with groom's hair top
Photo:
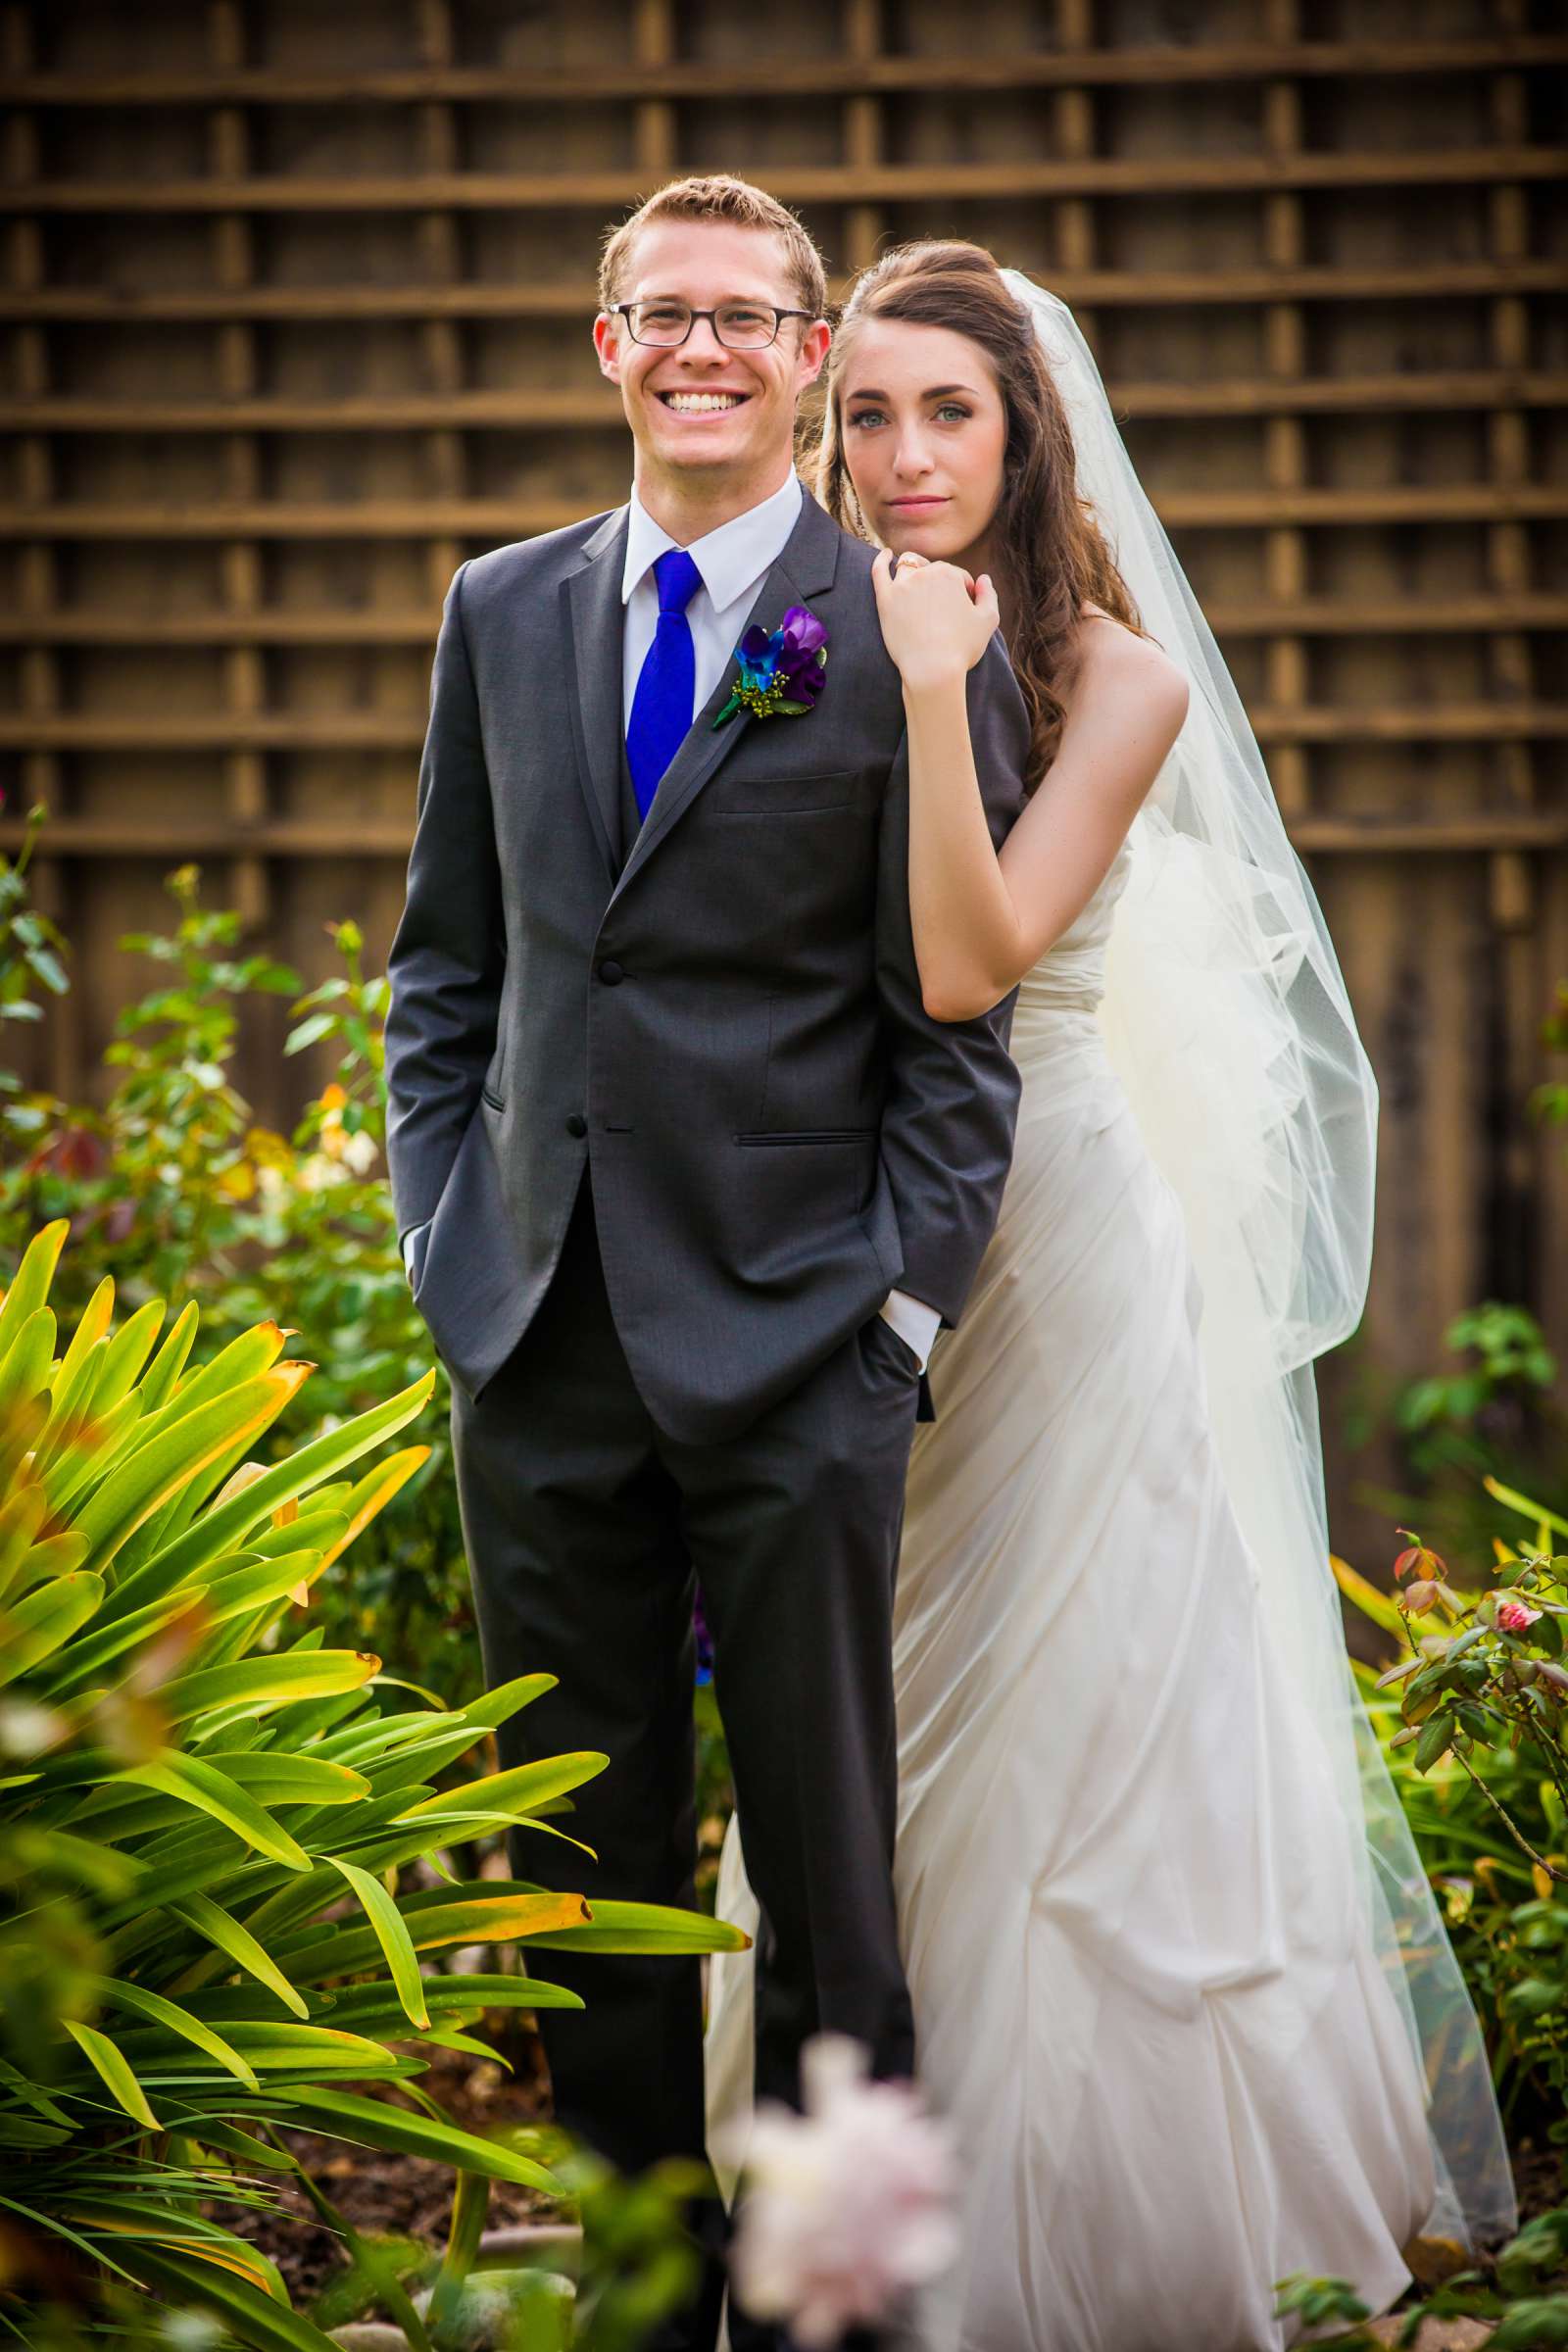
[[[722, 169], [724, 158], [693, 158]], [[966, 165], [778, 165], [771, 193], [788, 205], [931, 205], [1034, 195], [1253, 195], [1265, 188], [1450, 188], [1486, 181], [1568, 179], [1568, 153], [1526, 148], [1382, 148], [1363, 155], [1178, 155], [1081, 158], [1072, 162]], [[430, 172], [308, 179], [45, 179], [0, 188], [0, 212], [592, 212], [611, 214], [642, 195], [635, 172]]]

